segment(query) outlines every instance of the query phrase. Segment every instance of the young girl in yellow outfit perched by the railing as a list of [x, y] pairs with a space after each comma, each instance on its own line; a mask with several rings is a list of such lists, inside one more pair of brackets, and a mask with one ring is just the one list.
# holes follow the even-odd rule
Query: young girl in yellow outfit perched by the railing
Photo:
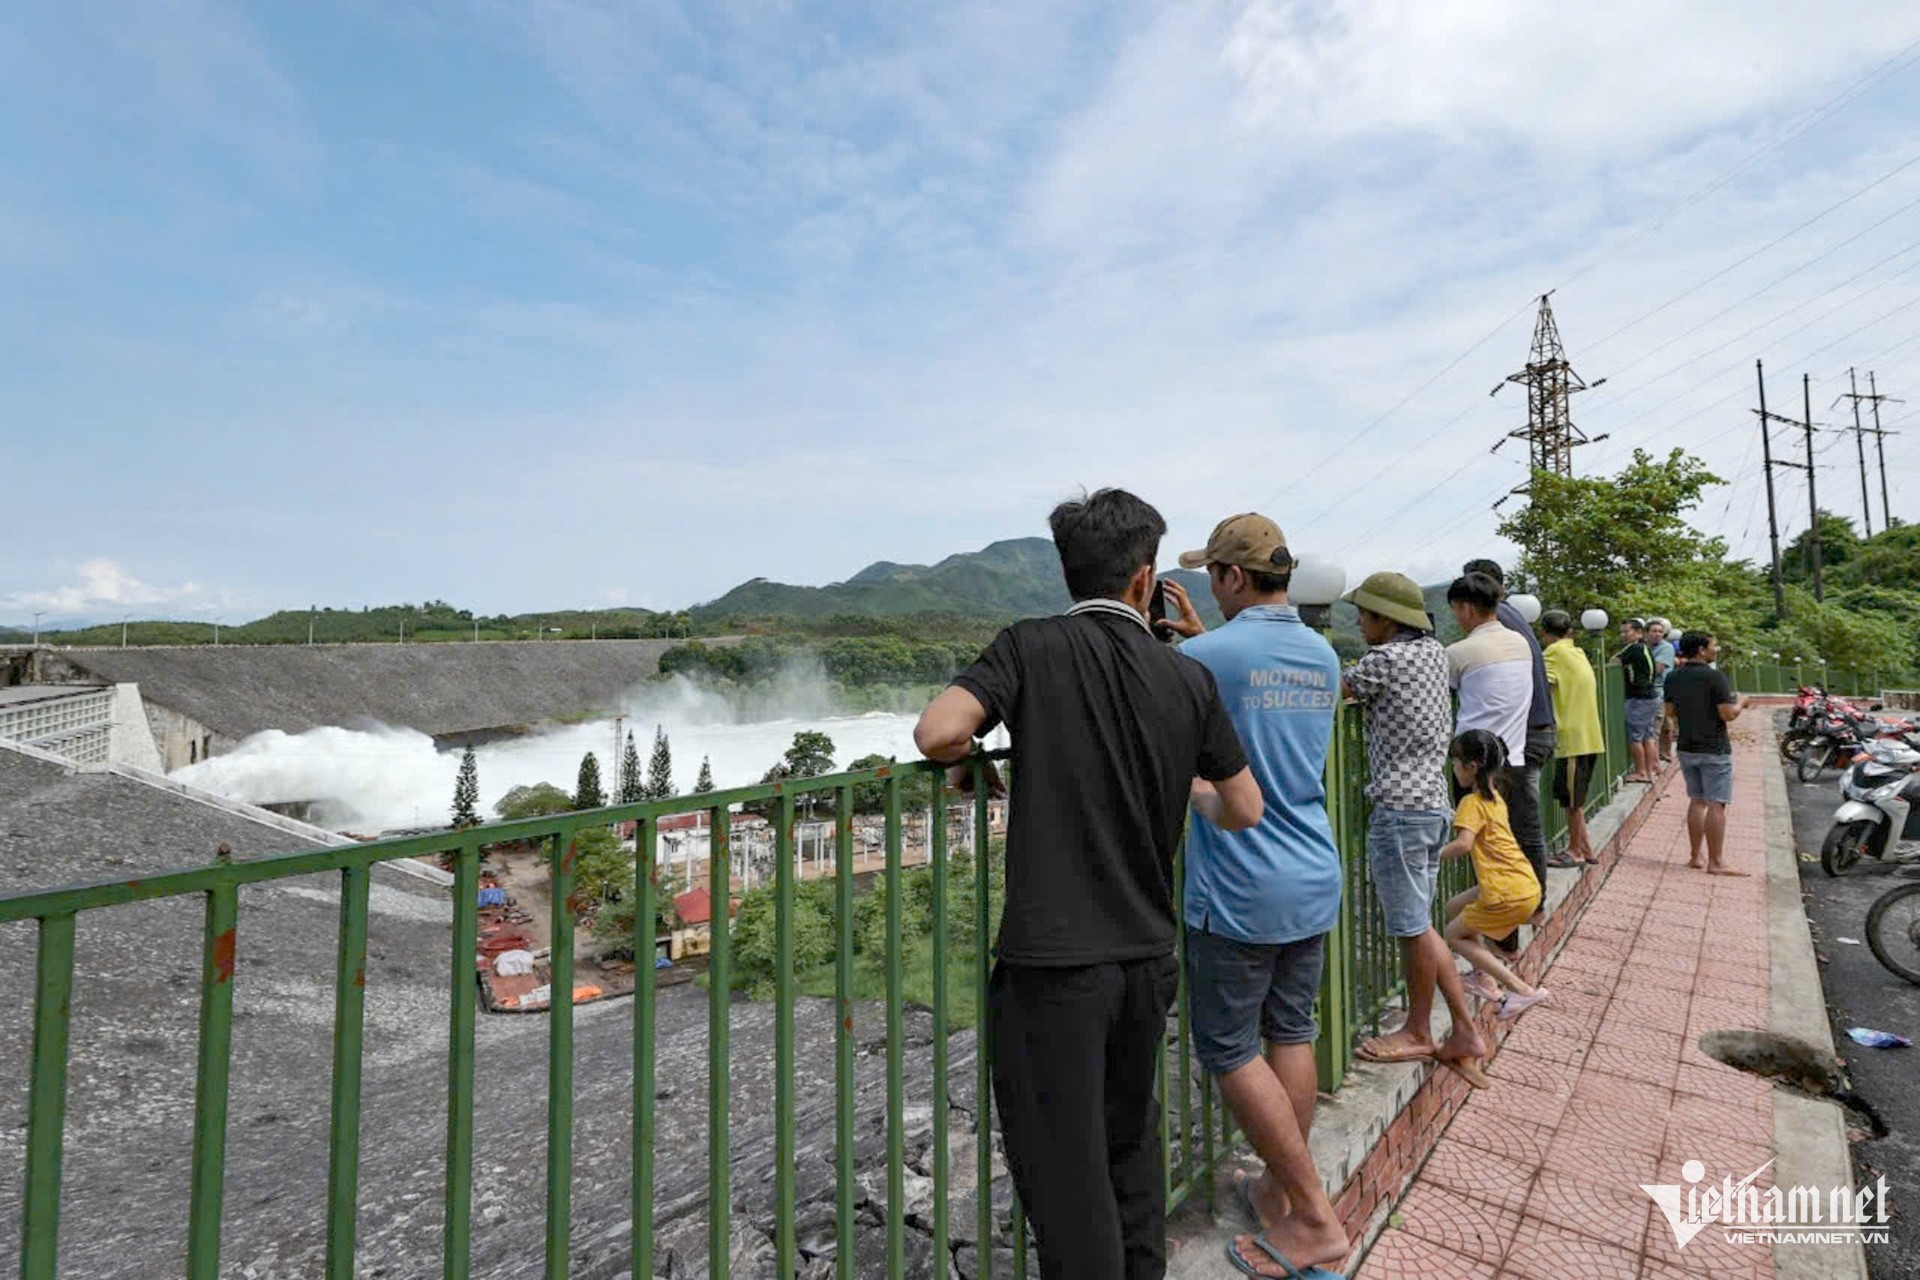
[[1486, 938], [1505, 938], [1540, 910], [1540, 879], [1513, 839], [1505, 798], [1494, 789], [1505, 758], [1507, 745], [1486, 729], [1469, 729], [1453, 739], [1448, 762], [1465, 794], [1453, 810], [1453, 841], [1440, 856], [1473, 856], [1478, 885], [1446, 904], [1446, 940], [1455, 956], [1465, 956], [1476, 969], [1467, 979], [1467, 990], [1486, 1000], [1498, 998], [1496, 1017], [1513, 1021], [1551, 1000], [1551, 994], [1546, 986], [1523, 983], [1486, 944]]

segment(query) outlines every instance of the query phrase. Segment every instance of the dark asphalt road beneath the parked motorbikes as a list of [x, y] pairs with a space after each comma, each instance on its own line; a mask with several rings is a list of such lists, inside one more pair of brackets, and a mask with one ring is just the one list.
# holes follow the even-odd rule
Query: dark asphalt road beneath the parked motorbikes
[[[1920, 1082], [1920, 1048], [1870, 1050], [1847, 1040], [1849, 1027], [1880, 1027], [1920, 1040], [1920, 986], [1880, 967], [1864, 935], [1866, 908], [1903, 877], [1872, 860], [1841, 879], [1820, 869], [1820, 841], [1839, 804], [1832, 773], [1812, 785], [1788, 773], [1788, 796], [1834, 1042], [1847, 1059], [1855, 1092], [1872, 1102], [1893, 1130], [1853, 1148], [1855, 1176], [1870, 1180], [1876, 1173], [1885, 1174], [1893, 1209], [1905, 1219], [1889, 1244], [1868, 1245], [1866, 1263], [1880, 1280], [1920, 1276], [1920, 1088], [1914, 1088]], [[1839, 938], [1859, 938], [1859, 944]]]

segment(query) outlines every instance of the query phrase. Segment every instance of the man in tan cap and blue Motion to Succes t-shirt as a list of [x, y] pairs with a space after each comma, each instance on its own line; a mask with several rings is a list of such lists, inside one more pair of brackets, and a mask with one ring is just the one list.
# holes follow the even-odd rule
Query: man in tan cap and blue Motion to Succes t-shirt
[[[1340, 915], [1325, 785], [1340, 658], [1288, 604], [1294, 560], [1265, 516], [1223, 520], [1206, 551], [1183, 555], [1181, 566], [1206, 566], [1227, 626], [1206, 631], [1173, 581], [1167, 595], [1181, 616], [1165, 626], [1187, 635], [1181, 652], [1213, 674], [1263, 800], [1254, 827], [1221, 831], [1204, 816], [1206, 783], [1194, 785], [1185, 902], [1194, 1054], [1267, 1163], [1240, 1184], [1267, 1240], [1296, 1267], [1340, 1261], [1321, 1257], [1313, 1224], [1325, 1194], [1306, 1151], [1317, 1084], [1313, 998], [1327, 931]], [[1271, 1265], [1252, 1240], [1236, 1247], [1246, 1263]]]

